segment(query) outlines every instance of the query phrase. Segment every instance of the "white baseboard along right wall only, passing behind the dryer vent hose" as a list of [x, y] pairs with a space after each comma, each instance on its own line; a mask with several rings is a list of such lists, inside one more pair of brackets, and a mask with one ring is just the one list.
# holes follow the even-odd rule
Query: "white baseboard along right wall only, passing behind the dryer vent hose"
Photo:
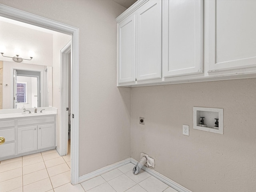
[[[136, 165], [138, 161], [136, 161], [135, 159], [131, 158], [131, 163]], [[173, 180], [170, 180], [169, 178], [167, 178], [166, 176], [163, 176], [162, 174], [156, 172], [155, 170], [152, 170], [151, 168], [147, 168], [145, 166], [142, 167], [142, 170], [148, 172], [150, 175], [154, 176], [155, 178], [158, 178], [160, 181], [164, 182], [165, 184], [167, 184], [168, 186], [174, 188], [175, 190], [177, 190], [178, 192], [192, 192], [186, 188], [184, 188], [183, 186], [181, 186], [180, 184], [174, 182]]]

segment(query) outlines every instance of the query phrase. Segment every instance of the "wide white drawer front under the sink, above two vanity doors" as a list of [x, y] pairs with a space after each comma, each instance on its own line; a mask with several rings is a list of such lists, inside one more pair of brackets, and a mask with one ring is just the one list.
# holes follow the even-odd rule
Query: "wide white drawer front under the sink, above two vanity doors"
[[41, 123], [51, 123], [55, 122], [55, 115], [54, 116], [47, 116], [47, 117], [40, 117], [40, 118], [22, 118], [17, 120], [18, 126], [24, 125], [35, 125]]

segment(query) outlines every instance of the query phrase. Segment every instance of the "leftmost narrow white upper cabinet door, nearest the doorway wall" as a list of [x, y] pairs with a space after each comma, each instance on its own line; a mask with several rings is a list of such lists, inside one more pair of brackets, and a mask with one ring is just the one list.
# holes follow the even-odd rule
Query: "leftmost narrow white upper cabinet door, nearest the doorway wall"
[[118, 23], [118, 83], [135, 82], [135, 15]]

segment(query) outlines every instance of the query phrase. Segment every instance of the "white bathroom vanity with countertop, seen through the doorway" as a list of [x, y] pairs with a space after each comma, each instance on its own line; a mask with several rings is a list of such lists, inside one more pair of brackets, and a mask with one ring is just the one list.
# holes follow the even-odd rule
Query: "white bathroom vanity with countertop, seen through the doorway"
[[0, 145], [0, 161], [56, 147], [57, 109], [42, 109], [42, 113], [31, 114], [21, 114], [21, 109], [1, 110], [0, 136], [5, 142]]

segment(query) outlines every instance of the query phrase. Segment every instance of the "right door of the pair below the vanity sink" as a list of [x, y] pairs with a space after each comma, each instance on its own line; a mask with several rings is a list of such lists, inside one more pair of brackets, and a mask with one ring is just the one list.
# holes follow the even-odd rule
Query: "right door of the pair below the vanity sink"
[[55, 146], [55, 124], [38, 125], [38, 149]]

